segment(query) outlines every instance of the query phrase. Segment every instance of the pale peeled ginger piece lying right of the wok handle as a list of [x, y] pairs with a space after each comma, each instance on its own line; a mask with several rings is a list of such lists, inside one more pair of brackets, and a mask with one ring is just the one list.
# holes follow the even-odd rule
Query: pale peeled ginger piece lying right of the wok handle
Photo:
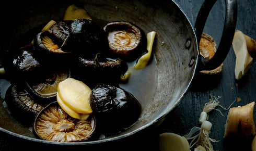
[[232, 47], [236, 55], [235, 76], [239, 80], [246, 74], [252, 63], [252, 57], [247, 50], [245, 36], [239, 30], [235, 32]]

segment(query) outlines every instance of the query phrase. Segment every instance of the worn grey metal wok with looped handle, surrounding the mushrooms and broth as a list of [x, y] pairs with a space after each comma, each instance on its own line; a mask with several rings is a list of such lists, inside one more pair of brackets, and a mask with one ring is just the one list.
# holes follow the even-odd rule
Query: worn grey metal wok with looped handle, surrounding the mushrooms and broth
[[[141, 130], [152, 127], [176, 107], [194, 77], [195, 72], [211, 70], [218, 67], [226, 58], [234, 36], [237, 18], [237, 3], [226, 0], [226, 19], [222, 40], [215, 56], [205, 60], [199, 55], [198, 44], [203, 32], [208, 13], [215, 1], [206, 0], [197, 16], [195, 27], [191, 24], [179, 6], [172, 1], [85, 1], [85, 8], [93, 20], [101, 26], [110, 21], [125, 20], [134, 22], [145, 33], [156, 31], [154, 55], [150, 68], [139, 81], [133, 79], [129, 91], [142, 104], [142, 115], [129, 129], [106, 139], [79, 142], [59, 143], [35, 139], [32, 133], [3, 107], [4, 92], [8, 82], [0, 81], [0, 131], [20, 139], [43, 144], [88, 145], [120, 140]], [[8, 3], [8, 2], [7, 2]], [[18, 37], [43, 23], [59, 20], [63, 17], [68, 5], [75, 1], [40, 1], [17, 2], [6, 4], [13, 11], [6, 12], [4, 31], [1, 34], [1, 60], [4, 52]], [[3, 12], [4, 13], [4, 12]], [[149, 75], [150, 74], [150, 75]], [[136, 84], [139, 83], [139, 84]], [[125, 85], [123, 85], [125, 87]]]

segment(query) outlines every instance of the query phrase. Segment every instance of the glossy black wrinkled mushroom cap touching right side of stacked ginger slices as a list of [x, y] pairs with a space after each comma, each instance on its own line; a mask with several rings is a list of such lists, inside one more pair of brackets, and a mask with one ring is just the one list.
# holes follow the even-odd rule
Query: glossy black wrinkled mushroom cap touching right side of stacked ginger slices
[[90, 94], [90, 106], [99, 127], [105, 130], [127, 128], [141, 115], [138, 100], [131, 93], [113, 85], [97, 85]]

